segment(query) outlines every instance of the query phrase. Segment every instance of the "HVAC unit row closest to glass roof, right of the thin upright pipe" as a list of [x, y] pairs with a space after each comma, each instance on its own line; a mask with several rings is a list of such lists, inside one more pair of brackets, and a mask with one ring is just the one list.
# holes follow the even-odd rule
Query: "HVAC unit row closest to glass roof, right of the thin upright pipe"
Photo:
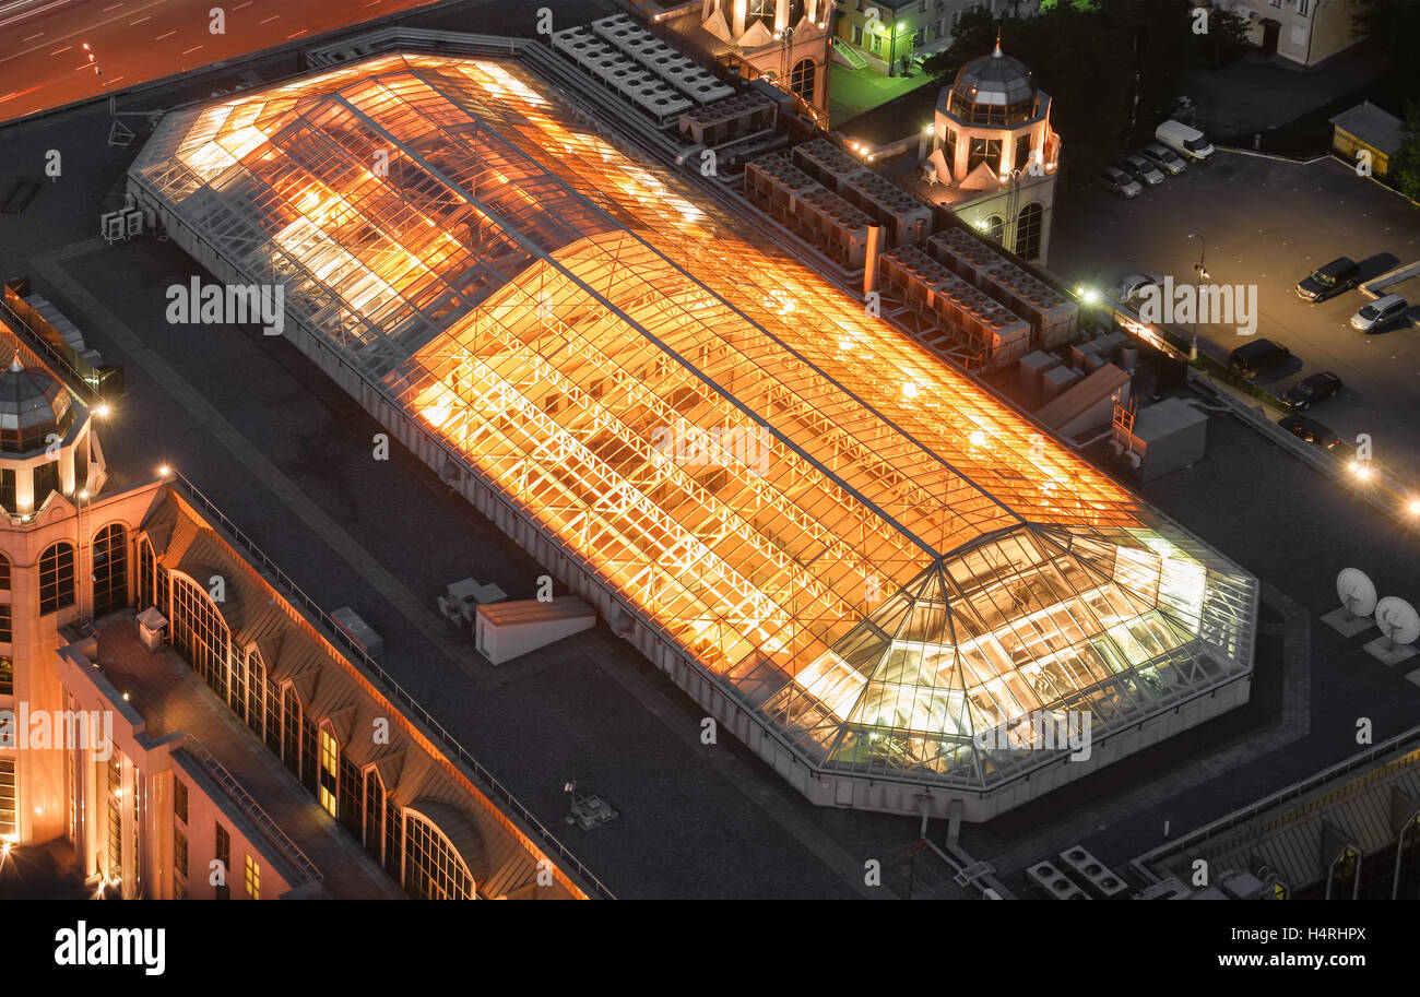
[[879, 257], [882, 287], [902, 298], [933, 328], [917, 338], [940, 356], [966, 345], [988, 369], [1005, 366], [1031, 349], [1031, 325], [953, 274], [916, 246]]

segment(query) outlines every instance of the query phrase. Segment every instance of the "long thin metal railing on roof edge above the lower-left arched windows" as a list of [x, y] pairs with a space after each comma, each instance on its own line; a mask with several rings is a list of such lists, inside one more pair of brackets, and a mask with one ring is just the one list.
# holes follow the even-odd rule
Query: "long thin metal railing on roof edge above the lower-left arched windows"
[[577, 875], [581, 876], [592, 892], [608, 900], [616, 899], [615, 893], [612, 893], [611, 889], [602, 883], [602, 881], [592, 875], [591, 869], [582, 865], [581, 861], [578, 861], [578, 858], [572, 855], [572, 852], [561, 841], [558, 841], [537, 817], [532, 815], [531, 810], [523, 805], [523, 802], [518, 801], [518, 798], [514, 797], [513, 792], [503, 785], [503, 783], [494, 778], [493, 773], [484, 768], [484, 766], [480, 764], [479, 760], [474, 758], [453, 737], [453, 734], [444, 730], [443, 724], [435, 720], [433, 716], [430, 716], [429, 712], [393, 679], [393, 676], [382, 669], [375, 659], [369, 656], [365, 648], [337, 626], [334, 618], [325, 612], [325, 609], [322, 609], [315, 599], [307, 595], [275, 561], [268, 558], [266, 552], [257, 547], [256, 541], [243, 533], [236, 523], [229, 520], [216, 503], [207, 498], [207, 496], [199, 491], [192, 481], [176, 472], [172, 472], [170, 483], [178, 484], [187, 498], [197, 504], [209, 518], [216, 521], [216, 524], [227, 533], [227, 537], [241, 548], [247, 558], [267, 574], [273, 585], [283, 589], [284, 595], [298, 602], [317, 623], [322, 625], [325, 631], [324, 636], [329, 639], [331, 643], [341, 646], [342, 650], [359, 663], [372, 677], [383, 683], [385, 692], [413, 713], [413, 719], [422, 723], [432, 734], [437, 734], [437, 739], [443, 743], [443, 746], [460, 763], [467, 766], [467, 768], [483, 783], [483, 787], [480, 788], [488, 790], [493, 797], [511, 810], [513, 814], [515, 814], [518, 819], [521, 819], [541, 839], [541, 844], [545, 845], [551, 854], [555, 854], [558, 858], [564, 859], [567, 865], [575, 869]]

